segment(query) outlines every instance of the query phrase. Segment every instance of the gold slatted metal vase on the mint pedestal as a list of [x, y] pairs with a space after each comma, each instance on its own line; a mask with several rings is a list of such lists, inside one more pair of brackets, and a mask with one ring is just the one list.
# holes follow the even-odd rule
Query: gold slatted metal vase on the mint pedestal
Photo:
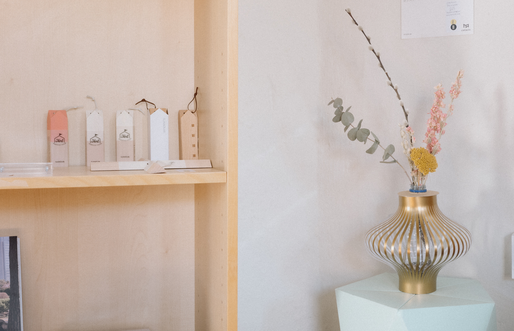
[[399, 192], [395, 215], [366, 234], [370, 254], [396, 269], [402, 292], [435, 291], [439, 270], [471, 244], [469, 231], [439, 210], [437, 194]]

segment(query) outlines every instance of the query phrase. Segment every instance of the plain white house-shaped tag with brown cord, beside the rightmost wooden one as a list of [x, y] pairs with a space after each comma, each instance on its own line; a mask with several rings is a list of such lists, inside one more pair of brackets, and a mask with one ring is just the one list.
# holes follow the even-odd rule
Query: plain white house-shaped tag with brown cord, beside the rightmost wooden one
[[170, 159], [168, 109], [148, 110], [148, 158], [152, 161]]

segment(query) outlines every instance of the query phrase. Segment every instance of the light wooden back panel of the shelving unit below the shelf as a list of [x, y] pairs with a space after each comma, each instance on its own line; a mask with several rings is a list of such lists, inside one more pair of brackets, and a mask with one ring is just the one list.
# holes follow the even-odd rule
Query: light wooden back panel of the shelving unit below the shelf
[[0, 192], [25, 329], [193, 329], [193, 199], [193, 185]]

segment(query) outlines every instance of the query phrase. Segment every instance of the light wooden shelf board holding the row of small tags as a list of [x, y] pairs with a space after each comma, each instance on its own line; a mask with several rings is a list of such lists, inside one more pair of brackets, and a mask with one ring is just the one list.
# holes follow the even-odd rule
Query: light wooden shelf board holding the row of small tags
[[53, 168], [51, 177], [0, 178], [0, 189], [101, 187], [169, 184], [226, 183], [227, 172], [214, 169], [170, 169], [166, 173], [144, 170], [90, 171], [85, 166]]

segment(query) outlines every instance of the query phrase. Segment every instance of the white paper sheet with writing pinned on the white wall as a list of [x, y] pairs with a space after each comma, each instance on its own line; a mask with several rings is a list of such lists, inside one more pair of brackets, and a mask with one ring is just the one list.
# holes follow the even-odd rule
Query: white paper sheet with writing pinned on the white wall
[[401, 38], [473, 34], [473, 0], [401, 0]]

